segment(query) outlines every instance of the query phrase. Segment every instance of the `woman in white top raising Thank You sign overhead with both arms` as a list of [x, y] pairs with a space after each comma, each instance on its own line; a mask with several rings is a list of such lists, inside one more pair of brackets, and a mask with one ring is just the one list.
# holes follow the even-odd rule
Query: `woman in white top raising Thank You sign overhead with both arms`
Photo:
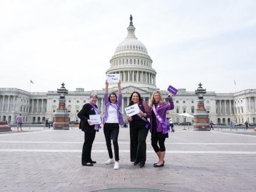
[[118, 133], [119, 124], [123, 125], [123, 115], [120, 112], [122, 106], [122, 93], [121, 93], [121, 81], [118, 82], [118, 98], [115, 93], [110, 93], [108, 96], [108, 82], [105, 81], [105, 115], [103, 119], [104, 135], [107, 144], [107, 151], [109, 159], [106, 164], [114, 163], [113, 152], [111, 148], [111, 136], [113, 140], [113, 146], [115, 151], [115, 166], [114, 169], [119, 169], [119, 148], [118, 148]]

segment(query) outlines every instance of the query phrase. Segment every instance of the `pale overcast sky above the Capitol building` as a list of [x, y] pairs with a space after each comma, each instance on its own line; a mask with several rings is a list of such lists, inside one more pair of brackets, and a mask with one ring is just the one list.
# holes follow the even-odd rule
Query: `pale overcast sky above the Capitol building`
[[132, 13], [161, 90], [256, 88], [255, 10], [255, 1], [0, 1], [0, 87], [28, 91], [32, 79], [32, 91], [101, 90]]

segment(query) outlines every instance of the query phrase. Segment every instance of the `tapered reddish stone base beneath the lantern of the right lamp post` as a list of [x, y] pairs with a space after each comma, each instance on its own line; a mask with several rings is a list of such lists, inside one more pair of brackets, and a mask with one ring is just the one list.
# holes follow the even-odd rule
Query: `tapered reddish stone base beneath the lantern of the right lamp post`
[[204, 99], [198, 99], [197, 102], [197, 108], [194, 112], [194, 130], [210, 130], [209, 116], [204, 107]]

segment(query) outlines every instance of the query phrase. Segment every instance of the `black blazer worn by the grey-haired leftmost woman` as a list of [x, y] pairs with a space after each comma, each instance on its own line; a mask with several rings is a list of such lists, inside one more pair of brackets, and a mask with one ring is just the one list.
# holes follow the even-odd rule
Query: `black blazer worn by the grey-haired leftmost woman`
[[[97, 105], [94, 105], [96, 108]], [[79, 113], [77, 113], [77, 116], [80, 118], [80, 124], [79, 124], [79, 129], [82, 129], [82, 131], [84, 132], [88, 132], [88, 133], [93, 133], [96, 130], [94, 129], [94, 125], [90, 126], [88, 124], [88, 119], [90, 119], [89, 115], [95, 115], [95, 111], [93, 109], [93, 107], [91, 107], [90, 104], [85, 104], [83, 106], [83, 108], [80, 110]]]

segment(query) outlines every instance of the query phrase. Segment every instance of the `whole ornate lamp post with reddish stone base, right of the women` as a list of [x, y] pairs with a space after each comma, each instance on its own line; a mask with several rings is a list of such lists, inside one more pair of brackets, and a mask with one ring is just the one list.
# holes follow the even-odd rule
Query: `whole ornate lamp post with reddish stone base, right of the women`
[[209, 115], [204, 107], [204, 94], [206, 89], [199, 84], [195, 94], [197, 95], [197, 108], [194, 112], [194, 130], [210, 130]]

